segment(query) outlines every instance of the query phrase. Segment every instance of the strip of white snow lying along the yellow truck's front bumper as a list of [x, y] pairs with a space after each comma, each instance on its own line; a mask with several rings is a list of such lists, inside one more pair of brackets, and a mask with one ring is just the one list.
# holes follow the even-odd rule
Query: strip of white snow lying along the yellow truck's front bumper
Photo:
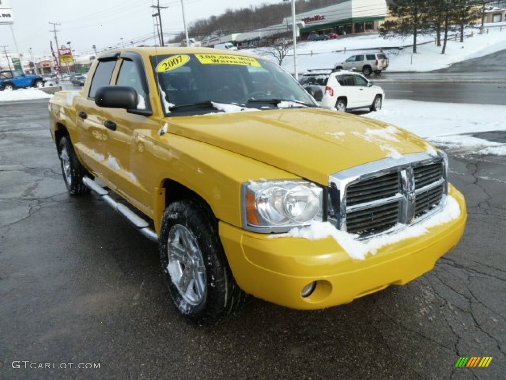
[[[451, 220], [458, 218], [460, 208], [457, 201], [451, 196], [447, 197], [445, 207], [438, 213], [410, 226], [401, 226], [398, 231], [386, 232], [385, 234], [375, 236], [365, 241], [358, 241], [357, 234], [336, 229], [330, 222], [316, 222], [306, 227], [296, 227], [289, 230], [286, 234], [273, 234], [269, 238], [293, 237], [308, 240], [321, 240], [328, 237], [333, 238], [348, 255], [355, 260], [364, 260], [368, 254], [376, 254], [377, 251], [388, 245], [399, 243], [403, 240], [423, 236], [429, 232], [429, 229]], [[400, 225], [394, 227], [398, 229]]]

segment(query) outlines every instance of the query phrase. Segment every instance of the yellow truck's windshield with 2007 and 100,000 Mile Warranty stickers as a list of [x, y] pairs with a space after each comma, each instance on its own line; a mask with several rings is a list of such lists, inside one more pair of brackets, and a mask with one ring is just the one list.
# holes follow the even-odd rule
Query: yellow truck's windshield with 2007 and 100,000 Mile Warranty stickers
[[[257, 109], [276, 108], [280, 103], [286, 106], [286, 102], [292, 102], [291, 106], [318, 106], [288, 72], [261, 58], [178, 54], [154, 56], [151, 63], [166, 113], [188, 112], [192, 104], [202, 108], [204, 102]], [[219, 110], [215, 107], [214, 111]]]

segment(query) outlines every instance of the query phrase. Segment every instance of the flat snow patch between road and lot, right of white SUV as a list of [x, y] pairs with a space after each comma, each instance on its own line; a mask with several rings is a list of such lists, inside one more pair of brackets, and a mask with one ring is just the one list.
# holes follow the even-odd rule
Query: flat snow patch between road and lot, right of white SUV
[[504, 131], [506, 106], [433, 103], [387, 99], [383, 109], [364, 115], [407, 129], [436, 145], [466, 148], [474, 153], [506, 155], [506, 145], [472, 136], [479, 132]]

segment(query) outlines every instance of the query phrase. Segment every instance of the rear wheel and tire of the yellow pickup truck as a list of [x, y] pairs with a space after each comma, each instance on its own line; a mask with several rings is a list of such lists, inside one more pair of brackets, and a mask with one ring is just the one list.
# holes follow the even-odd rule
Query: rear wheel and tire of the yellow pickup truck
[[67, 186], [68, 194], [80, 196], [90, 193], [90, 189], [82, 183], [85, 175], [93, 178], [90, 173], [81, 165], [75, 155], [74, 147], [70, 137], [63, 136], [58, 144], [58, 156], [62, 168], [63, 179]]

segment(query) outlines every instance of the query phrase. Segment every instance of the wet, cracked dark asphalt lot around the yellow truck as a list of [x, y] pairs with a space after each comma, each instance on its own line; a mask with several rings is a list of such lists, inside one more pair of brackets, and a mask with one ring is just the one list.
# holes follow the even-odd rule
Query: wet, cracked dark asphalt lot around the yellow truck
[[[322, 311], [250, 298], [199, 328], [173, 308], [156, 245], [67, 195], [47, 101], [1, 107], [0, 378], [504, 378], [504, 157], [449, 152], [469, 221], [429, 274]], [[456, 368], [462, 356], [493, 359]]]

